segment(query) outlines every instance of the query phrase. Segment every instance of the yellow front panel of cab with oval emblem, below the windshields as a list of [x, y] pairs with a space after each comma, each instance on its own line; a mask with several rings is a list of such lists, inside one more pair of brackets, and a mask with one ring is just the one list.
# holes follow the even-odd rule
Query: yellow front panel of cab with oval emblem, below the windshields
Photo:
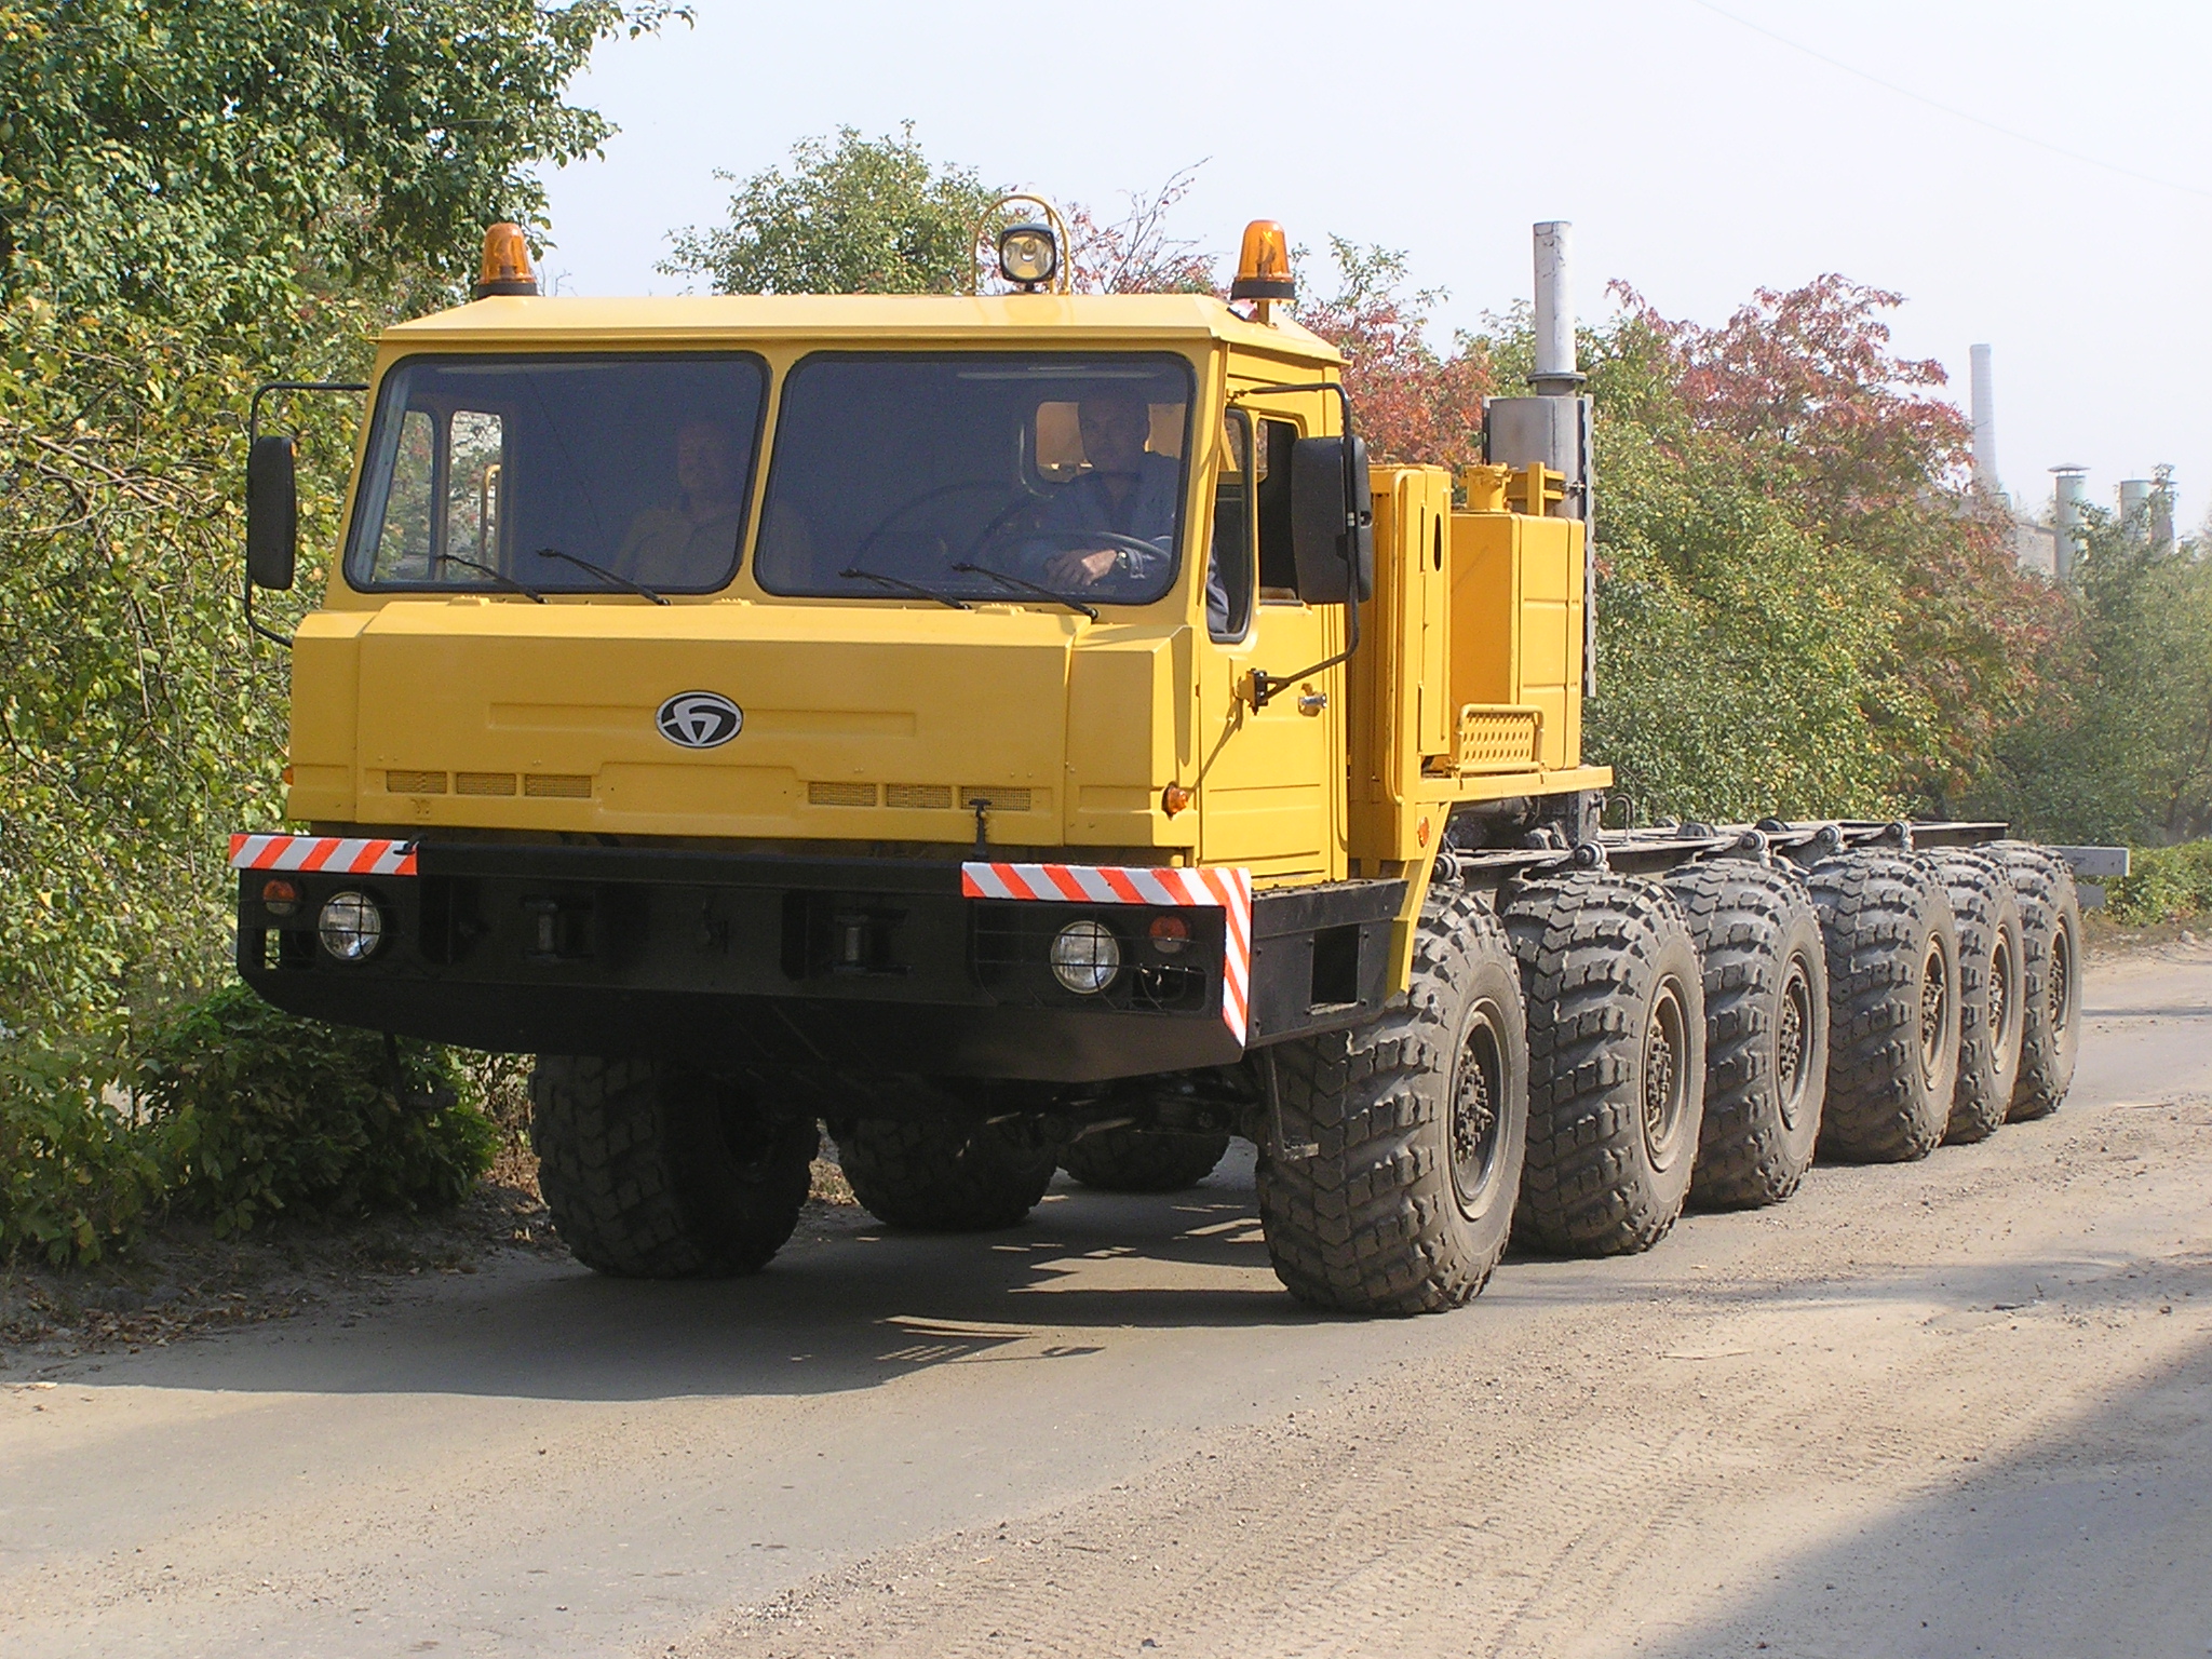
[[971, 845], [987, 801], [995, 845], [1181, 845], [1157, 801], [1188, 754], [1183, 635], [1015, 606], [325, 611], [294, 644], [288, 805], [403, 830]]

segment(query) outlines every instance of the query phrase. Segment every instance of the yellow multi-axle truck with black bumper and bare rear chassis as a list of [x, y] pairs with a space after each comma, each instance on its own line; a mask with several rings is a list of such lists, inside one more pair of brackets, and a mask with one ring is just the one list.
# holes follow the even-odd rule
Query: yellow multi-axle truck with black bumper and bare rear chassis
[[[991, 294], [555, 299], [493, 228], [363, 387], [239, 971], [538, 1055], [560, 1234], [633, 1276], [761, 1267], [823, 1124], [940, 1230], [1248, 1137], [1285, 1287], [1418, 1312], [1511, 1228], [1639, 1250], [2051, 1110], [2062, 860], [1601, 827], [1564, 248], [1451, 476], [1367, 456], [1270, 221], [1230, 301], [1071, 292], [1035, 223]], [[248, 606], [296, 555], [259, 409]]]

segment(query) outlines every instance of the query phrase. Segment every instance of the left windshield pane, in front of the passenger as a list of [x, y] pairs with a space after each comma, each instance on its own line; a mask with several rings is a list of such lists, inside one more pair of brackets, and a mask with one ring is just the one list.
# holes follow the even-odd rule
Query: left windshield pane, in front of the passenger
[[712, 593], [737, 571], [754, 356], [409, 358], [354, 509], [356, 588]]

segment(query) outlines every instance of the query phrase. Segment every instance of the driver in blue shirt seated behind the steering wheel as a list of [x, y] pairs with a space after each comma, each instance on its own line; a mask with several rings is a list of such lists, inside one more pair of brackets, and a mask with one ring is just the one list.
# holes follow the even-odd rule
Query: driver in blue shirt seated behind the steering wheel
[[[1095, 588], [1113, 575], [1144, 584], [1159, 575], [1175, 549], [1175, 509], [1183, 465], [1146, 449], [1152, 407], [1141, 392], [1095, 392], [1075, 407], [1084, 434], [1086, 471], [1044, 511], [1040, 531], [1053, 538], [1044, 580], [1066, 588]], [[1088, 531], [1150, 542], [1148, 553], [1124, 542], [1084, 544]]]

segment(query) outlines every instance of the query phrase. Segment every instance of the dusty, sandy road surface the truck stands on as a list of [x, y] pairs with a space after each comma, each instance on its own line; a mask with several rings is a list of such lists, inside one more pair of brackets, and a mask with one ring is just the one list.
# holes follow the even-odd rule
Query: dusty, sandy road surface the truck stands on
[[2055, 1119], [1444, 1318], [1245, 1159], [7, 1371], [0, 1652], [2205, 1655], [2212, 951], [2088, 1004]]

